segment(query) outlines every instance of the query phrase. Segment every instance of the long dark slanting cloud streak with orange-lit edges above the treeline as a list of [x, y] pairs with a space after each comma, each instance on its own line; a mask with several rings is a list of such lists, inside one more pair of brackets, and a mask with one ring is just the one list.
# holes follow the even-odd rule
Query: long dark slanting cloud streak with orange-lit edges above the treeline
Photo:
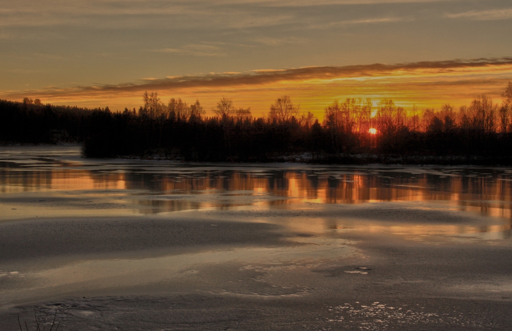
[[[399, 64], [368, 64], [349, 65], [345, 67], [304, 67], [291, 69], [262, 69], [245, 73], [227, 72], [210, 73], [207, 75], [169, 76], [162, 79], [143, 79], [139, 82], [121, 83], [116, 85], [80, 86], [72, 89], [46, 89], [31, 91], [30, 95], [38, 97], [59, 96], [91, 96], [133, 94], [143, 91], [178, 91], [197, 89], [226, 89], [231, 87], [256, 88], [261, 85], [280, 82], [306, 82], [314, 80], [343, 80], [343, 79], [375, 79], [392, 77], [425, 77], [434, 74], [461, 73], [471, 75], [472, 70], [510, 69], [512, 57], [480, 58], [472, 60], [423, 61]], [[253, 86], [253, 87], [251, 87]], [[4, 93], [10, 96], [19, 93]], [[23, 93], [28, 95], [27, 93]]]

